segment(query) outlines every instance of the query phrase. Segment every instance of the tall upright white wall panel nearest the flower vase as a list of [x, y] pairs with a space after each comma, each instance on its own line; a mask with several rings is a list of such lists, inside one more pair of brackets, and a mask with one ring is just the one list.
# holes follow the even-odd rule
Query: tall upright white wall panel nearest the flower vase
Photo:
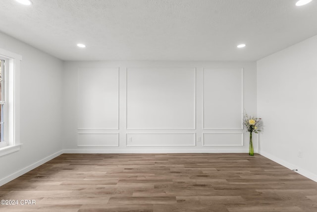
[[203, 74], [203, 128], [243, 129], [243, 69], [204, 69]]

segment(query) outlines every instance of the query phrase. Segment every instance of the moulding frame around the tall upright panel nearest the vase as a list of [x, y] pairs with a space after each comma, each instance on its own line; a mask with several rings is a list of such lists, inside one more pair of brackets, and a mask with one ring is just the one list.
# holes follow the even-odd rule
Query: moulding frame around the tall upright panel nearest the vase
[[[205, 125], [205, 121], [206, 121], [206, 117], [205, 117], [205, 93], [206, 93], [206, 90], [205, 90], [205, 70], [214, 70], [214, 71], [219, 71], [219, 70], [223, 70], [223, 71], [228, 71], [228, 70], [240, 70], [240, 74], [241, 74], [241, 77], [240, 79], [238, 79], [241, 83], [241, 86], [240, 86], [240, 89], [241, 89], [241, 92], [240, 92], [240, 96], [239, 96], [239, 99], [241, 101], [241, 110], [240, 110], [240, 117], [241, 117], [241, 124], [240, 124], [240, 127], [239, 128], [228, 128], [228, 127], [219, 127], [219, 128], [211, 128], [211, 127], [206, 127]], [[202, 99], [203, 99], [203, 103], [202, 103], [202, 111], [203, 111], [203, 116], [202, 116], [202, 126], [203, 126], [203, 130], [243, 130], [243, 124], [242, 124], [242, 120], [243, 120], [243, 93], [244, 93], [244, 90], [243, 90], [243, 68], [230, 68], [230, 69], [223, 69], [223, 68], [220, 68], [220, 69], [209, 69], [209, 68], [203, 68], [203, 94], [202, 94]], [[229, 104], [231, 105], [231, 104]], [[215, 111], [215, 113], [218, 113], [218, 111]], [[226, 117], [224, 117], [224, 119], [227, 119]], [[227, 119], [228, 120], [228, 123], [230, 123], [230, 119]]]

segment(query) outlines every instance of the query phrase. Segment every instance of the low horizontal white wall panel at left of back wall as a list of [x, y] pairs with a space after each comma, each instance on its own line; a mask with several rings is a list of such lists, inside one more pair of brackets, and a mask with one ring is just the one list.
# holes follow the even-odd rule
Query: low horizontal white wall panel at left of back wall
[[119, 134], [78, 133], [77, 146], [119, 146]]

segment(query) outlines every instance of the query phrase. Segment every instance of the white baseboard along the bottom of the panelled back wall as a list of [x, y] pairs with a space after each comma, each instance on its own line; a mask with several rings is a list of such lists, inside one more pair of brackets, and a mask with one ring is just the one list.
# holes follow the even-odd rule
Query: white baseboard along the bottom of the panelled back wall
[[248, 153], [245, 149], [196, 149], [196, 148], [124, 148], [124, 149], [64, 149], [63, 153]]

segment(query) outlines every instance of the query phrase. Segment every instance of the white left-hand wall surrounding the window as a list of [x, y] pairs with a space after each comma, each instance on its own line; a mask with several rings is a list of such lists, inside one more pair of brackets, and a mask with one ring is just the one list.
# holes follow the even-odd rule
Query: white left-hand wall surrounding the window
[[0, 157], [0, 185], [62, 152], [62, 62], [0, 33], [0, 48], [22, 56], [19, 151]]

